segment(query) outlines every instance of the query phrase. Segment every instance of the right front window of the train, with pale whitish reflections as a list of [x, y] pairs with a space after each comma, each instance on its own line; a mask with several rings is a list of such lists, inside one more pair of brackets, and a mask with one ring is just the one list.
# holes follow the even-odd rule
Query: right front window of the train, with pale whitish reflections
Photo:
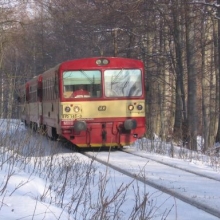
[[105, 70], [104, 85], [106, 97], [138, 97], [142, 91], [142, 77], [139, 69]]

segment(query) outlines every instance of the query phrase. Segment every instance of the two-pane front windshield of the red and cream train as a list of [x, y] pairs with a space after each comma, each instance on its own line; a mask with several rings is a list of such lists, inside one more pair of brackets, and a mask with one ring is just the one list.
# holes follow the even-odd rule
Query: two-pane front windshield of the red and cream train
[[139, 97], [142, 95], [142, 77], [139, 69], [105, 70], [104, 92], [100, 70], [65, 71], [63, 91], [65, 98]]

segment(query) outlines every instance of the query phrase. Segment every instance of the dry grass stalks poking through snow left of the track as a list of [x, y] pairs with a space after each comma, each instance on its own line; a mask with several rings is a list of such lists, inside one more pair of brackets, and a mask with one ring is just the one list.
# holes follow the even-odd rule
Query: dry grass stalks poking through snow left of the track
[[[0, 211], [5, 196], [12, 196], [37, 176], [45, 181], [45, 188], [36, 201], [56, 205], [72, 219], [153, 219], [157, 205], [152, 198], [149, 201], [150, 195], [146, 189], [140, 190], [137, 181], [114, 183], [108, 169], [100, 172], [95, 161], [65, 153], [64, 143], [24, 129], [18, 121], [1, 123], [0, 169], [6, 175], [0, 182]], [[8, 191], [11, 177], [19, 172], [28, 173], [28, 178]], [[115, 186], [109, 190], [112, 182]], [[128, 190], [133, 192], [133, 208], [125, 213], [124, 207], [131, 204]], [[165, 211], [161, 219], [167, 215]]]

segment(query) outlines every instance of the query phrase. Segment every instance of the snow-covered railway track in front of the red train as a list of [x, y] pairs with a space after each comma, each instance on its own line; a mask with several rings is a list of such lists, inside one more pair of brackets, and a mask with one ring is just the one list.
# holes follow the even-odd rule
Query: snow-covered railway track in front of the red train
[[[189, 166], [143, 155], [131, 150], [84, 152], [84, 155], [111, 167], [126, 176], [220, 218], [220, 175], [214, 177]], [[137, 155], [138, 154], [138, 155]], [[194, 168], [195, 170], [195, 168]], [[213, 191], [213, 188], [216, 191]]]

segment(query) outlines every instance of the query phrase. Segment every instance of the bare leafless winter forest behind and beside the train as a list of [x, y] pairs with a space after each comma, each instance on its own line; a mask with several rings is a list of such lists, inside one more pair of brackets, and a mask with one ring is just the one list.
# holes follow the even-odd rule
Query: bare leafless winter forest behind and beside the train
[[1, 0], [0, 117], [19, 117], [18, 85], [91, 56], [144, 62], [146, 137], [220, 141], [220, 0]]

